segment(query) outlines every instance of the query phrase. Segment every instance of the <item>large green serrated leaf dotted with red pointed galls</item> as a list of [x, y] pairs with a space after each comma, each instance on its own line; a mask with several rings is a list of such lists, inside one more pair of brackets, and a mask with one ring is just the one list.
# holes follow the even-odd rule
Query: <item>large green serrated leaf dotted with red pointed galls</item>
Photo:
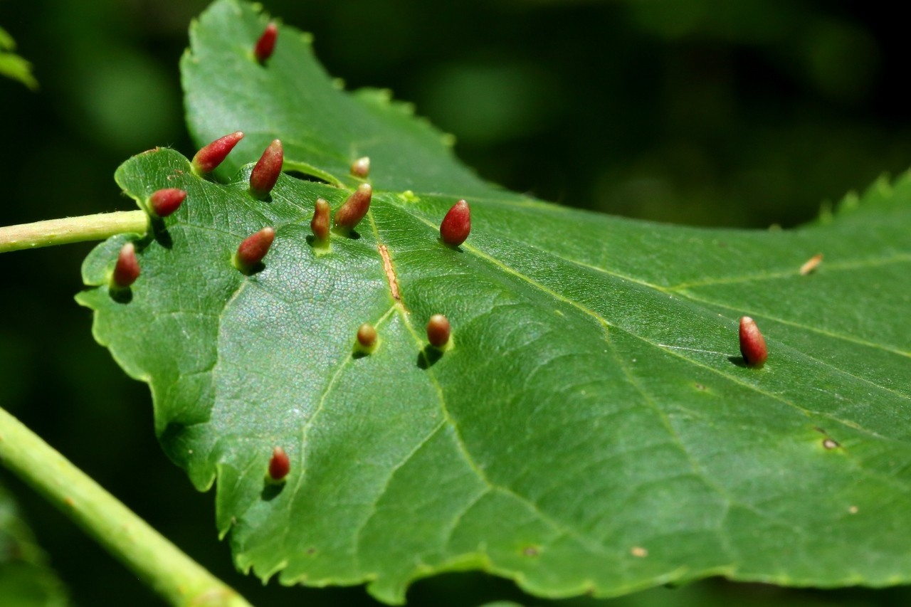
[[[466, 569], [543, 596], [714, 574], [911, 581], [911, 177], [796, 231], [572, 211], [472, 178], [400, 106], [343, 94], [290, 26], [259, 65], [267, 21], [217, 2], [183, 60], [190, 128], [247, 132], [240, 172], [202, 180], [170, 149], [128, 160], [116, 179], [140, 206], [165, 187], [187, 201], [148, 237], [98, 246], [78, 296], [149, 383], [170, 458], [200, 489], [218, 480], [241, 569], [366, 581], [387, 602]], [[286, 168], [329, 184], [285, 174], [254, 200], [248, 163], [275, 138]], [[363, 155], [370, 214], [314, 248], [313, 202], [337, 210]], [[437, 229], [461, 197], [473, 231], [453, 249]], [[233, 252], [266, 225], [263, 268], [239, 272]], [[142, 274], [112, 293], [127, 240]], [[453, 327], [442, 354], [424, 334], [436, 313]], [[745, 314], [762, 369], [739, 356]], [[371, 355], [354, 349], [364, 322]], [[281, 485], [264, 478], [275, 446], [292, 459]]]

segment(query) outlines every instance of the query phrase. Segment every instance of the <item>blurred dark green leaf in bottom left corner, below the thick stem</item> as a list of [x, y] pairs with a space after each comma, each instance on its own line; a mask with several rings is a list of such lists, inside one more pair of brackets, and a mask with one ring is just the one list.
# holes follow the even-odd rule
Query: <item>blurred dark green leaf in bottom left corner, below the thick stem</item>
[[[2, 31], [0, 31], [2, 34]], [[63, 607], [67, 594], [46, 564], [12, 496], [0, 485], [0, 604]]]

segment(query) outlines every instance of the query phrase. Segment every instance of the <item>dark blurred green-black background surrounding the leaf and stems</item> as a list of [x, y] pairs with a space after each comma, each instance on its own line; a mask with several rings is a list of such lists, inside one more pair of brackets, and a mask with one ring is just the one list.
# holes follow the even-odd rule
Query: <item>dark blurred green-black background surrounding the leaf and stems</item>
[[[178, 60], [197, 0], [0, 0], [40, 89], [0, 78], [0, 224], [131, 209], [112, 179], [154, 146], [194, 151]], [[911, 166], [906, 26], [837, 0], [267, 0], [315, 34], [349, 88], [392, 88], [457, 137], [488, 180], [562, 204], [694, 225], [784, 227]], [[371, 604], [361, 588], [284, 589], [233, 572], [211, 494], [162, 455], [148, 390], [73, 302], [91, 245], [0, 255], [0, 405], [261, 605]], [[77, 604], [158, 605], [15, 478]], [[477, 574], [415, 585], [416, 605], [523, 597]], [[581, 601], [574, 604], [595, 604]], [[598, 603], [610, 604], [613, 602]], [[906, 605], [905, 589], [782, 591], [707, 581], [623, 605]]]

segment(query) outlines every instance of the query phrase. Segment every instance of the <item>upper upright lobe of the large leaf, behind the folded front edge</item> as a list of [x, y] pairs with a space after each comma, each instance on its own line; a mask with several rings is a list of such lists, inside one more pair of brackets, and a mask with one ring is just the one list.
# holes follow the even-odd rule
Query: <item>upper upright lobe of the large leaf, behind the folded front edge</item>
[[200, 145], [233, 130], [246, 133], [220, 167], [222, 177], [233, 175], [241, 159], [259, 158], [281, 133], [285, 170], [333, 184], [356, 185], [351, 163], [369, 156], [377, 189], [461, 197], [494, 190], [455, 159], [452, 136], [415, 119], [414, 108], [392, 102], [389, 91], [346, 94], [313, 57], [309, 34], [282, 26], [274, 55], [259, 65], [253, 43], [268, 23], [249, 6], [216, 3], [190, 27], [192, 46], [180, 64], [190, 133]]

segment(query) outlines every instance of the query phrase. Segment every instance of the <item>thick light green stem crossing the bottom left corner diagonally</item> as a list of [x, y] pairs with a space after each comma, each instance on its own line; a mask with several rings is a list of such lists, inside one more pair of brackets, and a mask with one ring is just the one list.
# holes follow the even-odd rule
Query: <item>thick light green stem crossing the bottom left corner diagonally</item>
[[0, 408], [0, 462], [44, 494], [172, 605], [250, 607], [114, 496]]

